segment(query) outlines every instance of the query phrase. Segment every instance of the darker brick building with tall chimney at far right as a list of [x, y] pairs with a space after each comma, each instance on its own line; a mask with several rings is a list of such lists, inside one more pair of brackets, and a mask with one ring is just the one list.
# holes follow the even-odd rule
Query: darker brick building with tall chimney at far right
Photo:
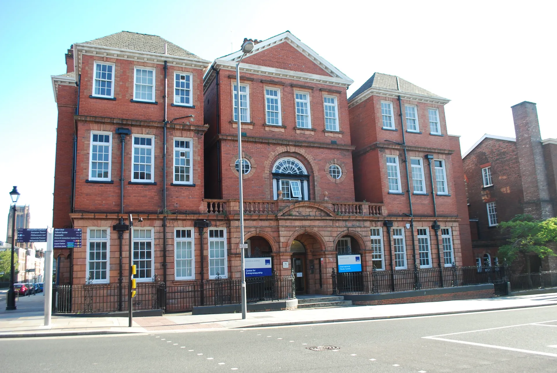
[[[499, 262], [506, 243], [501, 221], [526, 213], [553, 217], [557, 208], [557, 140], [541, 140], [536, 104], [512, 106], [516, 138], [484, 135], [463, 156], [472, 249], [478, 265]], [[557, 261], [532, 256], [532, 272], [555, 270]], [[526, 268], [521, 268], [525, 270]]]

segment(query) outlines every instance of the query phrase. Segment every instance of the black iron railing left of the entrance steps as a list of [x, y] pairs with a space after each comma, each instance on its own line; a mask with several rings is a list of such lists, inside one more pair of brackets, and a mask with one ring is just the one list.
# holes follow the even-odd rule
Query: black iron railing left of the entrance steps
[[[246, 278], [248, 302], [294, 299], [294, 276]], [[164, 286], [164, 282], [138, 282], [133, 309], [167, 312], [190, 311], [196, 306], [240, 304], [242, 283], [236, 278], [188, 281]], [[118, 284], [58, 285], [53, 287], [52, 310], [58, 313], [97, 313], [128, 310], [128, 284], [118, 296]]]

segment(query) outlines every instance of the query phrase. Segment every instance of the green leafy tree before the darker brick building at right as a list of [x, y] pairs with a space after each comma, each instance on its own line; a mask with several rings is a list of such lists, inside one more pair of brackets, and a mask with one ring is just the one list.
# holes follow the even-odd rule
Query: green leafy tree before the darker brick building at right
[[499, 248], [499, 255], [510, 263], [521, 253], [526, 261], [527, 273], [530, 273], [530, 255], [540, 258], [556, 255], [548, 243], [556, 241], [557, 218], [538, 221], [531, 215], [516, 215], [509, 221], [499, 223], [499, 229], [509, 237], [509, 243]]

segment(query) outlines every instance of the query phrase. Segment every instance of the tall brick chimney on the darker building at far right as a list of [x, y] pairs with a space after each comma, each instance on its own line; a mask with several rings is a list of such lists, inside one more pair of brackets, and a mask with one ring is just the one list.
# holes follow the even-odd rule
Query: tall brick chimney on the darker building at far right
[[553, 217], [536, 104], [524, 101], [511, 109], [524, 191], [524, 213], [536, 219]]

